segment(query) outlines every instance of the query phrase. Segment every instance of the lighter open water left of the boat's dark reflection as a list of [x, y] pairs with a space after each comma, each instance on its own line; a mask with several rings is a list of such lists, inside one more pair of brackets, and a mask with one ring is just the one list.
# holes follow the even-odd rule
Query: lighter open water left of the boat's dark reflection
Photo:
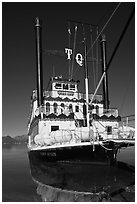
[[4, 145], [2, 150], [2, 201], [34, 201], [35, 188], [25, 145]]

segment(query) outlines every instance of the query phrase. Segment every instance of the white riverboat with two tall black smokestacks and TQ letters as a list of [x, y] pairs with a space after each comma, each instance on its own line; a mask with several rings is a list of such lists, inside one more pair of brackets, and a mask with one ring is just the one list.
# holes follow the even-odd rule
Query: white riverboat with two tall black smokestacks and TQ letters
[[[76, 27], [75, 27], [76, 28]], [[75, 29], [76, 30], [76, 29]], [[103, 94], [88, 90], [86, 38], [83, 39], [84, 57], [76, 60], [85, 69], [85, 93], [79, 92], [79, 81], [69, 77], [52, 76], [48, 90], [43, 89], [42, 42], [39, 18], [35, 23], [37, 89], [31, 97], [28, 123], [29, 154], [49, 162], [116, 162], [121, 146], [134, 144], [120, 134], [118, 109], [110, 108], [108, 97], [106, 38], [100, 40], [102, 54]], [[65, 49], [68, 60], [72, 50]]]

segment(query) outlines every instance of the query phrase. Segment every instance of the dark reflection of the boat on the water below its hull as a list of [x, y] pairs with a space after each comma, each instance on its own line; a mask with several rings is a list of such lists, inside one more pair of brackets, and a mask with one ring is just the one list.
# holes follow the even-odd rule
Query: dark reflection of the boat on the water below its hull
[[79, 162], [45, 162], [29, 153], [31, 175], [42, 201], [134, 201], [134, 168]]

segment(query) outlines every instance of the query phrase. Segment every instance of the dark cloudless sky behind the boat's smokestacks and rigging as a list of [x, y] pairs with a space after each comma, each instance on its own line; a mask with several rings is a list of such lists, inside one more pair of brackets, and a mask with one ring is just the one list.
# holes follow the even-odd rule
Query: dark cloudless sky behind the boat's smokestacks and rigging
[[[36, 88], [35, 17], [39, 16], [42, 20], [43, 50], [63, 52], [64, 48], [68, 47], [68, 19], [97, 24], [101, 30], [117, 4], [117, 2], [2, 3], [3, 135], [16, 136], [27, 133], [30, 96], [32, 90]], [[132, 2], [121, 3], [103, 32], [107, 38], [108, 61], [133, 7], [134, 3]], [[134, 21], [133, 18], [108, 71], [110, 106], [118, 108], [122, 116], [134, 114], [135, 111]], [[78, 29], [81, 29], [79, 25]], [[71, 24], [71, 30], [74, 31], [74, 24]], [[77, 43], [77, 51], [79, 44]], [[53, 66], [56, 75], [68, 77], [68, 62], [65, 58], [43, 54], [45, 88], [52, 75]], [[75, 64], [74, 72], [76, 69], [77, 65]], [[83, 68], [77, 69], [74, 78], [80, 79], [81, 90], [84, 81], [83, 76]], [[89, 89], [90, 92], [93, 92], [91, 64], [89, 64], [89, 79]], [[101, 88], [99, 93], [101, 93]]]

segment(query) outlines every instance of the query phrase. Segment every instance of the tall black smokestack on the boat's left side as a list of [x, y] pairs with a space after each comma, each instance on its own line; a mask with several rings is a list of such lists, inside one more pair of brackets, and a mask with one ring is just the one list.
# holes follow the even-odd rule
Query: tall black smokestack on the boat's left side
[[39, 107], [43, 105], [43, 73], [42, 73], [41, 26], [38, 17], [35, 19], [35, 37], [36, 37], [36, 66], [37, 66], [37, 99]]

